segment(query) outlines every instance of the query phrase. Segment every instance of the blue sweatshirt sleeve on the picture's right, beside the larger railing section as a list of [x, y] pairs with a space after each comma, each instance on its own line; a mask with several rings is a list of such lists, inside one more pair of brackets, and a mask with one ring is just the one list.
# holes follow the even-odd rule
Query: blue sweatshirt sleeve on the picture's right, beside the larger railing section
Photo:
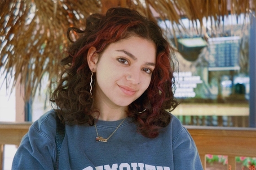
[[203, 166], [189, 132], [182, 127], [173, 141], [174, 170], [203, 170]]

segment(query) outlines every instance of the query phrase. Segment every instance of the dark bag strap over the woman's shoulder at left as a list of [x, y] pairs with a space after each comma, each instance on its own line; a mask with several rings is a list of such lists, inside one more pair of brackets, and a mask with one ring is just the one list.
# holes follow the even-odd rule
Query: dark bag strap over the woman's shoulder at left
[[65, 123], [62, 123], [62, 121], [59, 119], [57, 114], [56, 114], [56, 123], [57, 123], [57, 127], [56, 127], [55, 142], [56, 142], [56, 146], [57, 146], [57, 159], [56, 159], [56, 164], [55, 164], [54, 170], [59, 169], [60, 151], [62, 148], [62, 141], [65, 136]]

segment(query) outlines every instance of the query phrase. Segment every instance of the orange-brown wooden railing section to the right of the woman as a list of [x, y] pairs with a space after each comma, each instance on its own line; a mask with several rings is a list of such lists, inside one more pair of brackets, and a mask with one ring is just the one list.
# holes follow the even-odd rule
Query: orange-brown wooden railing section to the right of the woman
[[185, 126], [206, 169], [206, 154], [228, 156], [227, 170], [235, 170], [235, 157], [256, 157], [256, 128]]

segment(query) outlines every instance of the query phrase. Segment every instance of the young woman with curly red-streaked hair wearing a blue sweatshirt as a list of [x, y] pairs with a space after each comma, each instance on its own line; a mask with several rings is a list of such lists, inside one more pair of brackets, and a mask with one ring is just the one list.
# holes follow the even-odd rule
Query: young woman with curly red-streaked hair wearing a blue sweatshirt
[[88, 17], [84, 31], [71, 28], [68, 38], [71, 30], [81, 36], [62, 60], [57, 108], [33, 123], [12, 168], [202, 170], [190, 134], [166, 111], [177, 106], [173, 52], [159, 26], [112, 8]]

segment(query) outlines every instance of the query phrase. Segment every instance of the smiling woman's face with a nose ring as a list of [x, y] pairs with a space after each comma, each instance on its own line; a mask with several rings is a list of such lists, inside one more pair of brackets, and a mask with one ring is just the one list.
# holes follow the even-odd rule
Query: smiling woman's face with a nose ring
[[94, 71], [96, 102], [128, 106], [150, 85], [156, 62], [153, 42], [132, 36], [110, 44], [97, 56]]

